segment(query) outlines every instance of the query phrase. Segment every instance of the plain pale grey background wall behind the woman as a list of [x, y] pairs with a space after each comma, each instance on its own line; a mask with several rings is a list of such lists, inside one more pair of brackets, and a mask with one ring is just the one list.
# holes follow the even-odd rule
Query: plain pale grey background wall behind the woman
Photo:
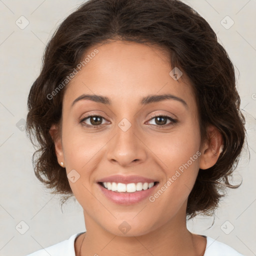
[[[59, 197], [36, 179], [31, 163], [34, 149], [23, 131], [27, 95], [39, 74], [45, 44], [82, 2], [0, 0], [0, 255], [26, 255], [85, 230], [75, 198], [61, 212]], [[222, 241], [244, 255], [256, 255], [256, 0], [184, 2], [209, 22], [235, 65], [249, 149], [233, 178], [233, 183], [242, 178], [242, 185], [227, 190], [213, 226], [213, 217], [203, 216], [187, 225], [190, 231]]]

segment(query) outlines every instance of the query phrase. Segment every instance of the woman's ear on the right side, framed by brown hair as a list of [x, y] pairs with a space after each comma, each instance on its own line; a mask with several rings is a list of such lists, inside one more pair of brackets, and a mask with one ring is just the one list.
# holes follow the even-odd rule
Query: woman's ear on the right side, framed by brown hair
[[213, 166], [219, 154], [223, 150], [223, 139], [221, 133], [218, 131], [217, 127], [214, 125], [209, 125], [207, 127], [207, 133], [209, 140], [203, 144], [199, 162], [200, 169], [207, 169]]

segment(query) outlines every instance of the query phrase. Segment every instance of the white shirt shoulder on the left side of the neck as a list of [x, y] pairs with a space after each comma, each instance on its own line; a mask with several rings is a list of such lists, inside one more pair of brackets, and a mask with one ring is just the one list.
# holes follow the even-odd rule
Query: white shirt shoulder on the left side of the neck
[[26, 256], [75, 256], [74, 240], [81, 233], [83, 232], [75, 233], [66, 240], [60, 241], [43, 249], [39, 249]]

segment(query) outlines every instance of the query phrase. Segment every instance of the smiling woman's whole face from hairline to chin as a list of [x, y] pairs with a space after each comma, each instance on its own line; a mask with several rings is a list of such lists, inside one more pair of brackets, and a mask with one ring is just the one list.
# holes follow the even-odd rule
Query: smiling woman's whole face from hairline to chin
[[[162, 49], [135, 42], [109, 42], [86, 55], [89, 61], [67, 85], [56, 143], [86, 229], [130, 236], [185, 221], [200, 167], [197, 107], [185, 74], [176, 80]], [[113, 190], [111, 181], [138, 191], [112, 191], [99, 180]], [[154, 186], [146, 189], [145, 181]]]

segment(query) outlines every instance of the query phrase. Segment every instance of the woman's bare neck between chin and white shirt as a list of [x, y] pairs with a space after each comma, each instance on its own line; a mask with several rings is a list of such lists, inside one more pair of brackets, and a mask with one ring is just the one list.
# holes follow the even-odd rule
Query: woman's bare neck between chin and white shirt
[[78, 256], [204, 255], [206, 239], [189, 232], [185, 219], [173, 219], [146, 234], [132, 236], [108, 232], [88, 215], [86, 220], [84, 239], [79, 241], [81, 246], [77, 245], [80, 247]]

